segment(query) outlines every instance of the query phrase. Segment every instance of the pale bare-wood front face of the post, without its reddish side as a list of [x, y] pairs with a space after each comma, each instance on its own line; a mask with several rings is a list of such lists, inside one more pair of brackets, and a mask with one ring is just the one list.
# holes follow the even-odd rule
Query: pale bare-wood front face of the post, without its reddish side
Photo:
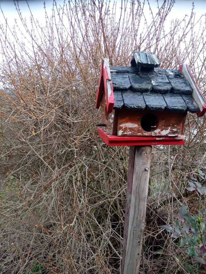
[[139, 273], [149, 183], [149, 170], [145, 171], [145, 167], [150, 169], [151, 151], [151, 146], [135, 146], [132, 193], [127, 205], [128, 235], [124, 235], [127, 236], [124, 274]]

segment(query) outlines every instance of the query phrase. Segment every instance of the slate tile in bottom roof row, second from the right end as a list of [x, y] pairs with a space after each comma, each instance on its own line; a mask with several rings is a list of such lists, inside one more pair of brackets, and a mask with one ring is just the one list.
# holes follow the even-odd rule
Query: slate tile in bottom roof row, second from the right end
[[169, 94], [163, 94], [167, 109], [172, 112], [185, 112], [187, 105], [180, 94], [170, 92]]

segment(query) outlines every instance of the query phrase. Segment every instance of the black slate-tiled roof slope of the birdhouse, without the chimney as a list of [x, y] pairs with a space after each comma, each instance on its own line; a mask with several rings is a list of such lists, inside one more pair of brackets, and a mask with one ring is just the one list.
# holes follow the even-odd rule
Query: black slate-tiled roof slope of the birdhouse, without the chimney
[[167, 109], [195, 113], [199, 110], [192, 88], [179, 70], [158, 69], [140, 72], [139, 67], [110, 67], [114, 109]]

